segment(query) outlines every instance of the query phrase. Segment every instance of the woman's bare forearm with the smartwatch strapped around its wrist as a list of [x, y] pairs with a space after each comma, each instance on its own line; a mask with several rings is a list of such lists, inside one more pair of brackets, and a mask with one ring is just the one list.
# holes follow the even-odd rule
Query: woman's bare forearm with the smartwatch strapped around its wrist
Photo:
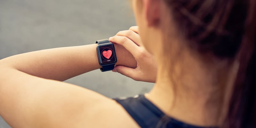
[[[101, 68], [97, 44], [63, 47], [28, 52], [0, 60], [0, 67], [14, 68], [21, 72], [47, 79], [64, 81], [74, 76]], [[123, 62], [121, 46], [116, 46], [117, 65], [136, 67], [132, 61]]]

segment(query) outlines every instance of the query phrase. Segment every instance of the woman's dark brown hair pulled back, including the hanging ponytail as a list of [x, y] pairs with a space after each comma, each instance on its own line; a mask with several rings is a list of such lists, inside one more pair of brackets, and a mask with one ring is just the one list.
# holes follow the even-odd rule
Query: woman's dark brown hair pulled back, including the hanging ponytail
[[240, 61], [223, 127], [256, 127], [256, 1], [164, 0], [188, 46]]

